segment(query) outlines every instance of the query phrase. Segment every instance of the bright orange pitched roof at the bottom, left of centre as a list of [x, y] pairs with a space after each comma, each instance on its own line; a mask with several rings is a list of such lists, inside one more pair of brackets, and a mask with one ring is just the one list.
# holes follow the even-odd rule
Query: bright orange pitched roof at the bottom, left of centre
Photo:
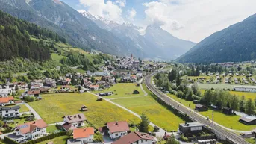
[[76, 128], [73, 130], [73, 138], [79, 139], [84, 137], [90, 137], [94, 134], [94, 128]]

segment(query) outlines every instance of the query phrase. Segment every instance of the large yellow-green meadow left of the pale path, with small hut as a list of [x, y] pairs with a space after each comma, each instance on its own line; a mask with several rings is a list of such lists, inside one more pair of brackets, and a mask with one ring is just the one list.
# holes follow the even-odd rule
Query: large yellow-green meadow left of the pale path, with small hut
[[[96, 128], [106, 122], [126, 120], [130, 123], [139, 123], [136, 116], [110, 104], [107, 101], [96, 101], [97, 97], [90, 93], [61, 93], [43, 95], [43, 100], [29, 103], [46, 123], [62, 122], [63, 116], [84, 113], [87, 120]], [[86, 105], [87, 112], [81, 112], [80, 107]]]

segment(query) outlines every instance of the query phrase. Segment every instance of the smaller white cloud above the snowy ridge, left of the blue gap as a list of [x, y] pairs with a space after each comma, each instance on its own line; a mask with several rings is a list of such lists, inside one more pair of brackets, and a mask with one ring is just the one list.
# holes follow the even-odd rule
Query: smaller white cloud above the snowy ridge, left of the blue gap
[[88, 11], [95, 16], [101, 16], [104, 19], [122, 23], [122, 8], [125, 6], [124, 0], [118, 0], [115, 3], [104, 0], [79, 0], [81, 4], [88, 7]]

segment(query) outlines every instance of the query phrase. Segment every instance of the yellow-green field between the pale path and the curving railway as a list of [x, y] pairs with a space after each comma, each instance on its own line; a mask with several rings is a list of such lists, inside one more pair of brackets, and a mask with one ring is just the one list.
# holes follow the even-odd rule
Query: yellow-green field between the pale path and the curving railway
[[166, 107], [163, 107], [150, 95], [154, 96], [143, 84], [143, 89], [149, 96], [140, 98], [115, 99], [113, 102], [120, 104], [137, 114], [145, 113], [149, 120], [166, 131], [177, 131], [178, 124], [184, 122], [180, 117], [176, 116]]

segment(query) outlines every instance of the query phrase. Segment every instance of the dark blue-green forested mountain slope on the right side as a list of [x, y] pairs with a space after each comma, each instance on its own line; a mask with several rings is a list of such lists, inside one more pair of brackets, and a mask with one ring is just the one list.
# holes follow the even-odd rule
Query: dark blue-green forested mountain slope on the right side
[[218, 31], [178, 57], [180, 62], [221, 63], [256, 59], [256, 14]]

